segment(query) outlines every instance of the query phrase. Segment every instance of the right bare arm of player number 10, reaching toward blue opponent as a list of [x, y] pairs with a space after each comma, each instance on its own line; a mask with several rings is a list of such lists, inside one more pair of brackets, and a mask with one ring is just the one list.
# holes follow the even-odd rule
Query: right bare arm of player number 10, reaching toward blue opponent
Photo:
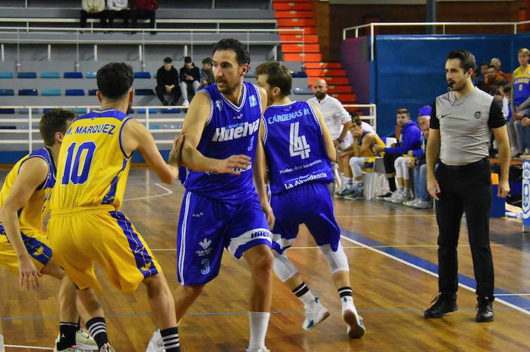
[[155, 143], [155, 139], [144, 125], [137, 120], [130, 120], [123, 126], [122, 146], [127, 155], [138, 150], [160, 181], [172, 184], [179, 176], [179, 170], [165, 163]]

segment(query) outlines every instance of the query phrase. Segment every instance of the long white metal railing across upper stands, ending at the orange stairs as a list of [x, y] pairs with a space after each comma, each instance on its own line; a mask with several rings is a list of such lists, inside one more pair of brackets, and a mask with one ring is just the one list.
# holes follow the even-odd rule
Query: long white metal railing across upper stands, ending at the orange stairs
[[[68, 28], [68, 27], [0, 27], [0, 34], [12, 34], [16, 33], [15, 39], [0, 39], [2, 44], [0, 44], [0, 60], [5, 61], [5, 48], [4, 44], [6, 43], [13, 43], [17, 45], [17, 67], [19, 66], [18, 63], [20, 63], [20, 44], [24, 43], [44, 43], [48, 44], [48, 61], [51, 61], [51, 44], [75, 44], [76, 45], [76, 67], [77, 63], [79, 63], [79, 46], [80, 44], [90, 44], [94, 46], [94, 61], [97, 61], [98, 58], [98, 45], [99, 44], [138, 44], [139, 46], [139, 61], [141, 62], [141, 68], [143, 69], [145, 67], [144, 65], [144, 57], [145, 57], [145, 46], [146, 45], [158, 45], [158, 44], [179, 44], [179, 42], [176, 42], [175, 39], [153, 39], [153, 37], [149, 38], [149, 40], [146, 40], [146, 34], [150, 32], [158, 32], [158, 33], [189, 33], [189, 40], [183, 40], [180, 43], [181, 44], [190, 44], [191, 46], [191, 53], [188, 54], [187, 52], [187, 46], [185, 47], [185, 56], [191, 56], [193, 57], [193, 51], [194, 51], [194, 44], [214, 44], [217, 39], [196, 39], [194, 38], [194, 34], [219, 34], [219, 33], [244, 33], [246, 34], [246, 40], [242, 41], [246, 43], [248, 51], [250, 51], [251, 44], [270, 44], [274, 45], [275, 48], [279, 44], [301, 44], [302, 46], [302, 54], [301, 56], [305, 56], [305, 30], [303, 28], [270, 28], [270, 29], [205, 29], [205, 28], [186, 28], [186, 29], [173, 29], [173, 28], [135, 28], [134, 30], [139, 32], [141, 34], [141, 39], [120, 39], [116, 40], [115, 38], [105, 38], [105, 39], [94, 39], [94, 38], [87, 38], [82, 39], [80, 38], [80, 35], [82, 35], [83, 28]], [[131, 30], [130, 28], [93, 28], [92, 31], [94, 32], [124, 32], [127, 30]], [[39, 33], [57, 33], [57, 32], [71, 32], [72, 34], [75, 34], [75, 37], [72, 39], [24, 39], [20, 38], [20, 34], [23, 32], [39, 32]], [[278, 40], [251, 40], [250, 34], [251, 33], [287, 33], [287, 34], [298, 34], [301, 36], [300, 40], [293, 40], [293, 41], [282, 41], [280, 42]], [[272, 51], [273, 58], [275, 61], [277, 61], [277, 49]], [[302, 61], [303, 65], [303, 61]]]

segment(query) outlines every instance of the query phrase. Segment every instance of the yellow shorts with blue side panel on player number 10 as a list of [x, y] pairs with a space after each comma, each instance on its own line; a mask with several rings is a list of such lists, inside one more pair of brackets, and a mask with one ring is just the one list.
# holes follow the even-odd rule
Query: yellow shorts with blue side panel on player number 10
[[79, 289], [101, 291], [94, 263], [124, 292], [162, 272], [130, 220], [113, 206], [52, 211], [48, 232], [53, 258]]

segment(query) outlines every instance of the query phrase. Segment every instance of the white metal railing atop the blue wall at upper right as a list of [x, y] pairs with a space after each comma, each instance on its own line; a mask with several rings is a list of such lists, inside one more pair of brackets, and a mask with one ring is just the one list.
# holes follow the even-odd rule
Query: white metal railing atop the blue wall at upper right
[[418, 27], [418, 26], [427, 26], [427, 27], [442, 27], [442, 34], [446, 34], [446, 26], [510, 26], [513, 27], [513, 34], [517, 34], [517, 27], [519, 25], [529, 24], [530, 20], [522, 22], [381, 22], [381, 23], [368, 23], [366, 25], [356, 25], [353, 27], [347, 27], [342, 30], [342, 39], [346, 40], [348, 31], [355, 31], [355, 38], [359, 37], [359, 30], [362, 28], [370, 28], [370, 60], [374, 61], [375, 51], [374, 43], [375, 36], [374, 30], [375, 27]]

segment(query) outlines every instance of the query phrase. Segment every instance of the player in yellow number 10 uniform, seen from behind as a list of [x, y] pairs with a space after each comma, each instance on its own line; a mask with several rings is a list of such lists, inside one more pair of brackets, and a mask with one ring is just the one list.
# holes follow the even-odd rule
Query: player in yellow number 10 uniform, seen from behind
[[131, 155], [138, 150], [162, 182], [177, 180], [175, 139], [168, 165], [153, 136], [127, 116], [132, 104], [134, 73], [125, 63], [108, 63], [97, 73], [101, 108], [77, 118], [63, 139], [57, 182], [51, 196], [49, 231], [56, 260], [79, 288], [87, 308], [87, 327], [100, 351], [114, 351], [108, 342], [103, 308], [94, 290], [101, 285], [94, 262], [124, 292], [146, 285], [151, 311], [165, 351], [179, 350], [175, 303], [156, 258], [130, 220], [119, 210]]

